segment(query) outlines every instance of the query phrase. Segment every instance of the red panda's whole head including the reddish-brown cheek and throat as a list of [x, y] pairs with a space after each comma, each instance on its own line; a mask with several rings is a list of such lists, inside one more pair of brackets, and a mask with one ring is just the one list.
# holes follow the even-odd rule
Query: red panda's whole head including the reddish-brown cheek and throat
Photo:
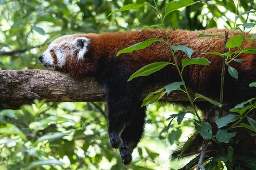
[[88, 54], [90, 40], [86, 34], [64, 35], [52, 41], [39, 60], [49, 70], [67, 71], [76, 76], [93, 70], [93, 57]]

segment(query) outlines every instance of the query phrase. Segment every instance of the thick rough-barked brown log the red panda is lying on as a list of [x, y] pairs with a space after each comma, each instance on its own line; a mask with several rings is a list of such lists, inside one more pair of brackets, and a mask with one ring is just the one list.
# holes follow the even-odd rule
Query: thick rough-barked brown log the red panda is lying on
[[[163, 88], [163, 85], [145, 88], [141, 99], [159, 88]], [[195, 96], [193, 92], [191, 95]], [[105, 94], [93, 77], [78, 80], [58, 71], [0, 71], [0, 109], [17, 109], [20, 105], [32, 103], [34, 99], [46, 99], [47, 102], [95, 102], [105, 101]], [[170, 102], [187, 100], [182, 91], [173, 91], [161, 99]]]

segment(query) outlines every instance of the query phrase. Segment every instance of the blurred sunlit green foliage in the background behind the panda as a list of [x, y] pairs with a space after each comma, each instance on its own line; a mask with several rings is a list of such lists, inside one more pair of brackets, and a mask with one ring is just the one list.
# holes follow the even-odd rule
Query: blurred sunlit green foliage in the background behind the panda
[[[228, 0], [202, 0], [169, 14], [167, 28], [199, 30], [231, 28], [234, 8]], [[0, 70], [45, 69], [38, 57], [56, 37], [78, 32], [129, 31], [158, 24], [149, 8], [111, 11], [130, 3], [152, 0], [0, 0]], [[158, 0], [164, 12], [169, 0]], [[252, 0], [240, 0], [239, 12], [255, 9]], [[235, 3], [237, 1], [235, 0]], [[255, 14], [248, 20], [255, 22]], [[238, 24], [245, 23], [240, 17]], [[255, 28], [253, 28], [255, 29]], [[248, 30], [246, 30], [248, 31]], [[255, 32], [252, 30], [251, 32]], [[148, 107], [145, 135], [129, 166], [109, 145], [104, 102], [44, 103], [35, 100], [20, 110], [0, 111], [1, 170], [176, 170], [189, 160], [169, 162], [169, 151], [188, 139], [193, 118], [186, 114], [181, 126], [173, 123], [166, 132], [166, 118], [182, 107], [157, 103]]]

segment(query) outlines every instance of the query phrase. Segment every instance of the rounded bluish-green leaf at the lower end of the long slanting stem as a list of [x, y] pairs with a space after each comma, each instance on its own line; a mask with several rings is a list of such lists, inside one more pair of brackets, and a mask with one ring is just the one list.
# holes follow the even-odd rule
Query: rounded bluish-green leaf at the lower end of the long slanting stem
[[212, 125], [209, 122], [201, 122], [199, 125], [194, 122], [195, 130], [197, 130], [204, 139], [212, 139]]

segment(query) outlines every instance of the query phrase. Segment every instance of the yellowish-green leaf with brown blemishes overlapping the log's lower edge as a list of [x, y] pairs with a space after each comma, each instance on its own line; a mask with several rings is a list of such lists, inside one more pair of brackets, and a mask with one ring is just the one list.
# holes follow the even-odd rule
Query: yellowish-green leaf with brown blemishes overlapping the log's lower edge
[[143, 103], [142, 103], [141, 107], [143, 107], [145, 105], [148, 105], [148, 104], [151, 104], [151, 103], [154, 103], [154, 102], [157, 102], [165, 94], [166, 94], [166, 91], [164, 90], [164, 88], [161, 88], [161, 89], [159, 89], [155, 92], [150, 92], [148, 94], [148, 96], [146, 96], [146, 98], [143, 100]]

